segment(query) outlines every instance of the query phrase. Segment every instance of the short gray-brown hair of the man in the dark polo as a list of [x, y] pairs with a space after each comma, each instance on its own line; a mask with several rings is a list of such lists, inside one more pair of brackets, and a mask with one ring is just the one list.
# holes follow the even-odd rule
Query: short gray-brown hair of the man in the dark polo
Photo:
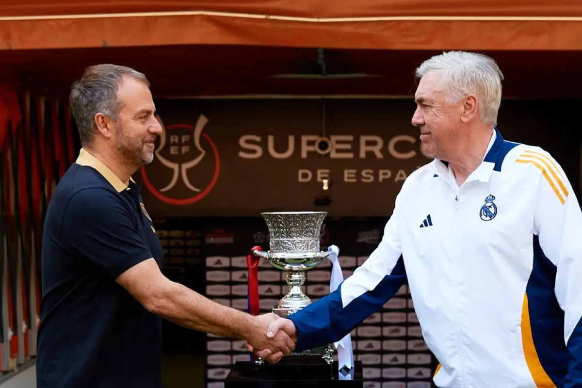
[[103, 113], [117, 122], [122, 107], [117, 91], [123, 76], [134, 77], [150, 87], [144, 74], [130, 67], [109, 64], [87, 67], [83, 77], [73, 83], [69, 104], [77, 123], [81, 146], [89, 145], [93, 140], [97, 113]]

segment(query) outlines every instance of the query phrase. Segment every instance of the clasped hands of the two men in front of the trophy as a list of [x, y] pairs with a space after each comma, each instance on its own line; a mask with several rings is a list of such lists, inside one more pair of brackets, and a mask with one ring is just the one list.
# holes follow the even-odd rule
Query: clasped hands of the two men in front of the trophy
[[295, 349], [297, 331], [292, 321], [271, 312], [253, 318], [252, 329], [246, 340], [247, 350], [276, 364]]

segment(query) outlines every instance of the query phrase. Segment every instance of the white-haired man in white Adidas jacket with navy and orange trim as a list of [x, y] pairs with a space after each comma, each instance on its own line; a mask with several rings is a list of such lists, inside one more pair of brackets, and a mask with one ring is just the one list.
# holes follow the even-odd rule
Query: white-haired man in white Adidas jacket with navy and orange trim
[[569, 180], [544, 149], [496, 129], [493, 59], [445, 52], [416, 74], [412, 123], [434, 160], [404, 182], [367, 261], [267, 335], [285, 330], [297, 351], [338, 341], [408, 280], [438, 387], [582, 387], [582, 212]]

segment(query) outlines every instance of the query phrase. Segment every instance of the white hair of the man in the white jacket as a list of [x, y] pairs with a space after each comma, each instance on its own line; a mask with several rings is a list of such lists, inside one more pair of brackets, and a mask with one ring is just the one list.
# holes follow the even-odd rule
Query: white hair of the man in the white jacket
[[443, 52], [418, 66], [416, 77], [420, 79], [432, 72], [442, 74], [448, 102], [458, 102], [474, 94], [478, 99], [481, 121], [497, 125], [503, 74], [495, 60], [473, 52]]

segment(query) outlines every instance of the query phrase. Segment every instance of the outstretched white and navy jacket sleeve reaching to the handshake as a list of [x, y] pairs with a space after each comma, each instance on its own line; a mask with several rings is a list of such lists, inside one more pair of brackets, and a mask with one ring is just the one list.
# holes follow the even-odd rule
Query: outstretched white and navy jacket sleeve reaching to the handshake
[[[296, 351], [339, 341], [381, 308], [406, 280], [398, 238], [398, 197], [378, 247], [332, 293], [289, 315]], [[341, 248], [341, 247], [340, 247]]]

